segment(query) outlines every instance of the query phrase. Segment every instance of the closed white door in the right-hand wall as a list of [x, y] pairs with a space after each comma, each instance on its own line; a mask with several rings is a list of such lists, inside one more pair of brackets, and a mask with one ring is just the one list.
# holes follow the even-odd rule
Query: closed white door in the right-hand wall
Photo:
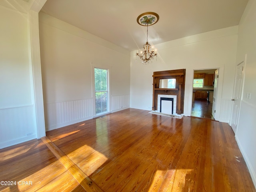
[[230, 125], [234, 133], [236, 133], [236, 126], [238, 124], [243, 85], [244, 85], [244, 62], [241, 62], [236, 66], [235, 86], [234, 86], [234, 94], [232, 98], [233, 103], [232, 103], [232, 115], [231, 115]]

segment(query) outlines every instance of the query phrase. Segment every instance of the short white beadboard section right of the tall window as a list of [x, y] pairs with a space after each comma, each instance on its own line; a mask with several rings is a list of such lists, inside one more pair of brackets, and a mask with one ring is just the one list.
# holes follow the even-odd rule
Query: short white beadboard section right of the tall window
[[112, 112], [130, 108], [130, 95], [112, 96]]

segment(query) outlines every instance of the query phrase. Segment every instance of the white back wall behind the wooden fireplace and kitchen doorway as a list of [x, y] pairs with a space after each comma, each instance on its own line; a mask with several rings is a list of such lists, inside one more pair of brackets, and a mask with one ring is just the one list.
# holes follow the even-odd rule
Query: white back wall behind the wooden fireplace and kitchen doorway
[[[149, 31], [150, 32], [150, 31]], [[229, 122], [235, 73], [238, 26], [197, 34], [157, 44], [157, 61], [143, 65], [131, 52], [132, 108], [152, 109], [152, 74], [154, 71], [186, 69], [184, 115], [192, 106], [193, 70], [219, 68], [216, 120]]]

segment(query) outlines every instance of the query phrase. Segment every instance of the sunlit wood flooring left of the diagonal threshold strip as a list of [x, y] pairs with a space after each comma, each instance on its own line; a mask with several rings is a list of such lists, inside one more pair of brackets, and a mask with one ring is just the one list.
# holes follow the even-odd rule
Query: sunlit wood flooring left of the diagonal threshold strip
[[0, 181], [16, 181], [1, 184], [3, 192], [84, 190], [41, 140], [0, 150]]

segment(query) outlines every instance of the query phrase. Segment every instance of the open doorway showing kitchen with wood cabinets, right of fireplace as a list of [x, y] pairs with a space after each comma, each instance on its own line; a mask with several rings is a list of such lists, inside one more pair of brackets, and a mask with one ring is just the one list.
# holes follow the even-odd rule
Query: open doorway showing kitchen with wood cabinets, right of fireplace
[[214, 119], [214, 74], [217, 69], [194, 70], [191, 116]]

